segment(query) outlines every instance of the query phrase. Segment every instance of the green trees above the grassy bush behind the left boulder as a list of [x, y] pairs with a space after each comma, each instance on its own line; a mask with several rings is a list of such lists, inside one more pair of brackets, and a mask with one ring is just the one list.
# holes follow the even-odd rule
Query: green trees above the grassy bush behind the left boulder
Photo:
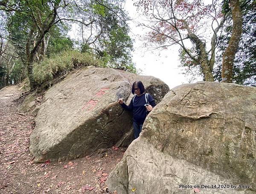
[[[0, 57], [6, 58], [0, 64], [6, 69], [2, 82], [13, 82], [8, 78], [11, 73], [6, 56], [12, 56], [12, 61], [17, 58], [19, 67], [24, 70], [21, 71], [24, 76], [22, 73], [20, 76], [28, 76], [30, 87], [34, 89], [38, 85], [33, 75], [34, 64], [62, 51], [77, 49], [77, 46], [82, 52], [95, 54], [105, 66], [136, 71], [131, 61], [133, 41], [126, 24], [129, 18], [121, 9], [121, 3], [120, 0], [0, 1]], [[73, 25], [81, 27], [81, 39], [77, 42], [67, 36]], [[5, 49], [7, 45], [12, 49]]]

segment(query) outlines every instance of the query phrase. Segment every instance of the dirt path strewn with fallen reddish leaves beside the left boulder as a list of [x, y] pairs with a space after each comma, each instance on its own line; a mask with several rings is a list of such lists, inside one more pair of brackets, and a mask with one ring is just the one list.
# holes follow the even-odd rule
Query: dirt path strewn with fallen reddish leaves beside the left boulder
[[62, 163], [32, 163], [29, 135], [35, 127], [34, 117], [18, 114], [14, 100], [20, 93], [17, 86], [0, 90], [0, 193], [107, 193], [105, 180], [121, 160], [124, 149], [106, 149], [104, 153]]

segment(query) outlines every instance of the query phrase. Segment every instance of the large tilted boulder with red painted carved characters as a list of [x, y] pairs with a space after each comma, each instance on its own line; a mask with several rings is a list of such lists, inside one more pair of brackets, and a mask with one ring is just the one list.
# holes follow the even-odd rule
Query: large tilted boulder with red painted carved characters
[[[131, 141], [131, 113], [117, 100], [129, 103], [131, 85], [141, 80], [157, 102], [169, 87], [152, 76], [111, 68], [85, 67], [55, 84], [44, 95], [30, 135], [34, 162], [70, 160], [113, 146], [125, 136]], [[129, 133], [130, 132], [130, 133]], [[120, 143], [122, 144], [122, 143]]]

